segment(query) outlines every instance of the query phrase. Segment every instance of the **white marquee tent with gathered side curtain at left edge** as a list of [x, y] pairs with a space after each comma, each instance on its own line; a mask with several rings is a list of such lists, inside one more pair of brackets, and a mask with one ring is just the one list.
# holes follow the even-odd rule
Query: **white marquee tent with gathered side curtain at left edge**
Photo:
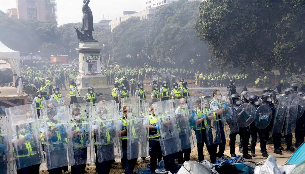
[[20, 52], [8, 48], [7, 46], [5, 46], [5, 44], [3, 44], [0, 41], [0, 59], [7, 59], [9, 61], [9, 64], [14, 73], [13, 86], [15, 85], [15, 82], [19, 77], [17, 93], [23, 94], [22, 79], [20, 78], [21, 77]]

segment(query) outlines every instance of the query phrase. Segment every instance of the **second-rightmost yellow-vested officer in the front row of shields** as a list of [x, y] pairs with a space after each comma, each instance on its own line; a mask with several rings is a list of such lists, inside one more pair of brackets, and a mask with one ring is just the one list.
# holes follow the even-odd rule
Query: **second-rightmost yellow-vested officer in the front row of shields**
[[[195, 110], [195, 113], [192, 112], [192, 114], [195, 115], [195, 124], [196, 129], [194, 129], [197, 139], [197, 152], [198, 152], [198, 161], [202, 162], [204, 160], [203, 156], [203, 146], [206, 142], [206, 129], [205, 127], [208, 125], [207, 119], [213, 120], [214, 117], [212, 113], [205, 107], [204, 103], [202, 103], [201, 99], [198, 99], [196, 101], [197, 109]], [[198, 117], [196, 117], [196, 115]], [[213, 145], [206, 145], [206, 149], [208, 150], [210, 154], [210, 159], [212, 163], [216, 162], [216, 154], [214, 153], [214, 146]]]

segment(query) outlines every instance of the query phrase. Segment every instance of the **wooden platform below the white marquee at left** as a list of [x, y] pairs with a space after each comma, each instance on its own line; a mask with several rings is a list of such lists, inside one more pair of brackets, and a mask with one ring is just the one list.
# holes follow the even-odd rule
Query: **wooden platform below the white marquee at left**
[[17, 88], [15, 87], [0, 87], [0, 103], [6, 103], [11, 106], [18, 106], [14, 101], [19, 101], [20, 105], [27, 104], [27, 94], [17, 94]]

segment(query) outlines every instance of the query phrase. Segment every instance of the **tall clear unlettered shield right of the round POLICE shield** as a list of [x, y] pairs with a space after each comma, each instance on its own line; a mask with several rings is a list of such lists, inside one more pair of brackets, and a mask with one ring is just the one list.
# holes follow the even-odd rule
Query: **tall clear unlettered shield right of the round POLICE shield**
[[278, 101], [276, 111], [273, 116], [273, 126], [271, 130], [271, 134], [274, 135], [276, 133], [282, 133], [283, 126], [286, 119], [286, 113], [288, 109], [288, 102], [286, 97], [283, 97]]

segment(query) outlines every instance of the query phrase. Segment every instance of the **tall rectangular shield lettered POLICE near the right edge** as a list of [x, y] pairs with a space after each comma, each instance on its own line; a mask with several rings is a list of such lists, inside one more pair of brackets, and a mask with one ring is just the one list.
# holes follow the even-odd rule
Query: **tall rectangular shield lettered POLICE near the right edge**
[[290, 94], [287, 98], [289, 106], [286, 112], [285, 135], [296, 132], [296, 119], [298, 115], [300, 95]]

